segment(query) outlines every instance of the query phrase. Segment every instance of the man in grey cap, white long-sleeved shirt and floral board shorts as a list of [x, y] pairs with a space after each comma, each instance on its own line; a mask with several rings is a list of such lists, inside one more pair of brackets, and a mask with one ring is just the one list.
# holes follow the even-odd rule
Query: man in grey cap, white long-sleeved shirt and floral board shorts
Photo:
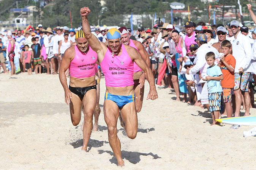
[[245, 100], [245, 114], [250, 113], [250, 95], [249, 95], [249, 77], [253, 71], [250, 67], [251, 58], [253, 56], [251, 44], [248, 37], [240, 33], [240, 25], [237, 20], [230, 22], [230, 28], [235, 40], [231, 42], [233, 56], [235, 58], [235, 117], [240, 115], [240, 107], [242, 103], [242, 94]]

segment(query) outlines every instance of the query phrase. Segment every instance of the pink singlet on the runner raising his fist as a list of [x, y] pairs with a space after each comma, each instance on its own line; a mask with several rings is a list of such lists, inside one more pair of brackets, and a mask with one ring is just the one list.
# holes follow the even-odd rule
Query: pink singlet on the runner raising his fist
[[126, 87], [133, 85], [133, 61], [122, 44], [122, 54], [114, 55], [107, 48], [107, 52], [100, 63], [104, 73], [106, 86]]

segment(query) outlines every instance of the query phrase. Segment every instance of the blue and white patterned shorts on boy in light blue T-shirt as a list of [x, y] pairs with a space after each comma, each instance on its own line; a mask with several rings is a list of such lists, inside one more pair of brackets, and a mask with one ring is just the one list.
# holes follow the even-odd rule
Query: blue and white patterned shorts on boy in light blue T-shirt
[[221, 109], [221, 94], [222, 92], [215, 92], [208, 94], [209, 111], [219, 111]]

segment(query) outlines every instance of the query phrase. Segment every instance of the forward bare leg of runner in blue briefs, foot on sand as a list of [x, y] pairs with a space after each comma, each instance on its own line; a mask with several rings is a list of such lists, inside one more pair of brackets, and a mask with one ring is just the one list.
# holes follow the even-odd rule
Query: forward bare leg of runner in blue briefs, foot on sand
[[[135, 107], [135, 106], [134, 106]], [[107, 133], [109, 139], [109, 145], [112, 148], [115, 158], [117, 159], [118, 166], [124, 166], [122, 154], [121, 154], [121, 143], [117, 137], [117, 120], [119, 117], [119, 107], [112, 100], [105, 100], [104, 106], [104, 119], [107, 124]]]

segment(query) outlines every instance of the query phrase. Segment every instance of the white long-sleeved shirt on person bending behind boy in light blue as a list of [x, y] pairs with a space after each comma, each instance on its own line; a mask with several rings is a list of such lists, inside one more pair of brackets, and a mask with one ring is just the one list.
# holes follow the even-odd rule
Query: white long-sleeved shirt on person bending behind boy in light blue
[[206, 62], [205, 55], [208, 52], [215, 53], [215, 58], [216, 59], [219, 58], [219, 52], [216, 50], [216, 48], [208, 44], [202, 44], [198, 48], [198, 51], [196, 52], [196, 58], [197, 58], [196, 65], [189, 70], [190, 74], [196, 74], [198, 71], [200, 71], [202, 77], [207, 76], [206, 71], [209, 65]]

